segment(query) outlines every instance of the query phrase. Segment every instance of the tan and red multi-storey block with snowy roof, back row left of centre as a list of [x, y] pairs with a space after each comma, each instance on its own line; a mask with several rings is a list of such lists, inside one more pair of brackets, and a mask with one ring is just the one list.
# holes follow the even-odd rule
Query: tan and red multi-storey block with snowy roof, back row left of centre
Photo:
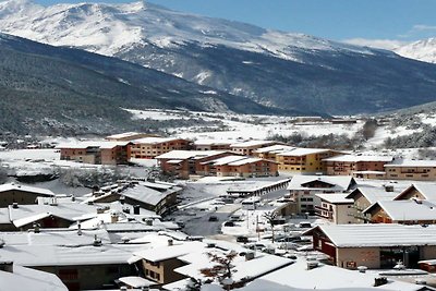
[[130, 155], [136, 159], [154, 159], [171, 150], [187, 150], [191, 141], [173, 137], [144, 137], [131, 141]]

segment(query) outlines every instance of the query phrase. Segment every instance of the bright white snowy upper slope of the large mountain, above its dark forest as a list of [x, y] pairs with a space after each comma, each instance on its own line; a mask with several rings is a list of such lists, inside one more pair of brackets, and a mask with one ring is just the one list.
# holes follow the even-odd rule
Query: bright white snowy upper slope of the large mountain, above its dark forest
[[142, 1], [44, 8], [28, 0], [7, 0], [0, 2], [0, 29], [40, 43], [82, 47], [108, 56], [126, 50], [133, 44], [172, 47], [185, 41], [202, 46], [225, 45], [289, 60], [298, 60], [295, 49], [372, 53], [363, 47], [174, 12]]

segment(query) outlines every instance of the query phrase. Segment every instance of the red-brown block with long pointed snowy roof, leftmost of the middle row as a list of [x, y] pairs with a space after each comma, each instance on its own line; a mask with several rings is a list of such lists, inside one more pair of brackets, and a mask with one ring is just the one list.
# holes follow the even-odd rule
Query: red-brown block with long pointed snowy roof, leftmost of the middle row
[[209, 174], [208, 161], [233, 155], [225, 150], [171, 150], [156, 159], [165, 173], [189, 179], [190, 175]]

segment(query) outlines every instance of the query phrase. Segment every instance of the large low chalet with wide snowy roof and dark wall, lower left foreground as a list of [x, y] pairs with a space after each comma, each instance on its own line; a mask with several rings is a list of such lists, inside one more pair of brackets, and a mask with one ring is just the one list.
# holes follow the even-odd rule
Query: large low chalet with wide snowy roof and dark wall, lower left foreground
[[[125, 237], [124, 233], [121, 235]], [[136, 275], [128, 263], [132, 253], [147, 247], [112, 243], [109, 233], [101, 229], [3, 232], [2, 239], [2, 259], [53, 274], [70, 291], [116, 288], [113, 282], [118, 278]]]

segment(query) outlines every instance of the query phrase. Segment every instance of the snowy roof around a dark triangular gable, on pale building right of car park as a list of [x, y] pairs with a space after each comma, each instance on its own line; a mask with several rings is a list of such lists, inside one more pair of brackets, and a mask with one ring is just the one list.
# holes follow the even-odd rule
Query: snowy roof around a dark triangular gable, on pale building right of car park
[[[303, 184], [310, 182], [324, 182], [327, 184], [334, 185], [332, 187], [328, 187], [331, 191], [346, 191], [353, 183], [353, 178], [351, 175], [294, 175], [289, 182], [288, 190], [311, 190], [310, 187], [303, 186]], [[313, 190], [322, 190], [322, 189], [313, 189]]]

